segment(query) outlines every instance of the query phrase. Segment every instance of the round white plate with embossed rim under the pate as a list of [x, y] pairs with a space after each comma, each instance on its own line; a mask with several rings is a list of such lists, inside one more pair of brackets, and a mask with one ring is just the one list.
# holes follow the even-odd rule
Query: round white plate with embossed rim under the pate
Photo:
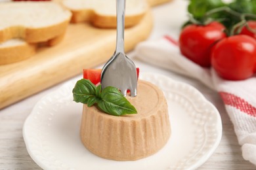
[[43, 169], [195, 169], [221, 141], [221, 117], [195, 88], [167, 76], [144, 73], [159, 86], [169, 105], [171, 138], [156, 154], [137, 161], [112, 161], [91, 154], [79, 139], [82, 104], [75, 103], [76, 80], [49, 93], [33, 108], [23, 127], [32, 159]]

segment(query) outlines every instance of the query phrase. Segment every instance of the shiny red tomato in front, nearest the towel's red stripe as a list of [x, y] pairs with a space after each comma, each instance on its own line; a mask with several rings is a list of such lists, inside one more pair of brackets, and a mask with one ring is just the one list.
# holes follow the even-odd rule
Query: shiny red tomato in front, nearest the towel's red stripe
[[247, 35], [234, 35], [213, 47], [211, 63], [219, 76], [243, 80], [256, 71], [256, 41]]

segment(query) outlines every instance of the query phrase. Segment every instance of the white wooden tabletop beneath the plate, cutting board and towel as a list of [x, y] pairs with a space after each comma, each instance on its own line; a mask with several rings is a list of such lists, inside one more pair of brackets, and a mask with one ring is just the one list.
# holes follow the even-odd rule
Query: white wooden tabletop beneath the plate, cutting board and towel
[[[153, 9], [155, 24], [150, 39], [157, 39], [166, 34], [173, 35], [177, 38], [181, 24], [186, 20], [186, 5], [187, 1], [185, 0], [175, 0], [172, 3], [155, 7]], [[131, 52], [130, 55], [132, 56], [133, 53]], [[218, 93], [213, 92], [200, 82], [186, 76], [152, 67], [137, 59], [135, 59], [135, 64], [137, 67], [140, 67], [140, 71], [161, 73], [175, 80], [191, 84], [200, 90], [200, 92], [202, 92], [219, 110], [223, 121], [223, 137], [221, 143], [215, 153], [199, 169], [256, 169], [255, 165], [252, 165], [242, 158], [242, 152], [236, 139], [232, 123], [228, 118]], [[77, 79], [80, 77], [81, 75], [79, 75], [79, 77], [77, 76]], [[43, 92], [37, 93], [23, 101], [0, 110], [0, 170], [41, 169], [32, 158], [30, 158], [26, 150], [22, 137], [22, 126], [35, 103], [37, 103], [41, 97], [49, 92], [53, 92], [60, 86], [61, 84], [58, 84], [53, 88], [44, 90]]]

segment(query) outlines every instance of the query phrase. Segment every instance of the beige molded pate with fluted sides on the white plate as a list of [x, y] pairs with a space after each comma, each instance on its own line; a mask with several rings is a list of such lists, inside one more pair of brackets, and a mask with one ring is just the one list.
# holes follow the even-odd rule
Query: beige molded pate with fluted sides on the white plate
[[83, 107], [81, 141], [108, 160], [139, 160], [160, 150], [171, 135], [166, 99], [161, 90], [144, 80], [137, 97], [127, 96], [137, 114], [112, 116], [96, 107]]

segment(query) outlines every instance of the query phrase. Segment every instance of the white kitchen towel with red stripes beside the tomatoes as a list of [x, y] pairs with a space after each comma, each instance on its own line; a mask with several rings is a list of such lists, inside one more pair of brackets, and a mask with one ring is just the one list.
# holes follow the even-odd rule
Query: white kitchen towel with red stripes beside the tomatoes
[[201, 81], [221, 95], [234, 124], [245, 160], [256, 165], [256, 76], [240, 81], [220, 78], [214, 69], [203, 68], [182, 56], [178, 42], [165, 36], [140, 42], [135, 48], [140, 60]]

